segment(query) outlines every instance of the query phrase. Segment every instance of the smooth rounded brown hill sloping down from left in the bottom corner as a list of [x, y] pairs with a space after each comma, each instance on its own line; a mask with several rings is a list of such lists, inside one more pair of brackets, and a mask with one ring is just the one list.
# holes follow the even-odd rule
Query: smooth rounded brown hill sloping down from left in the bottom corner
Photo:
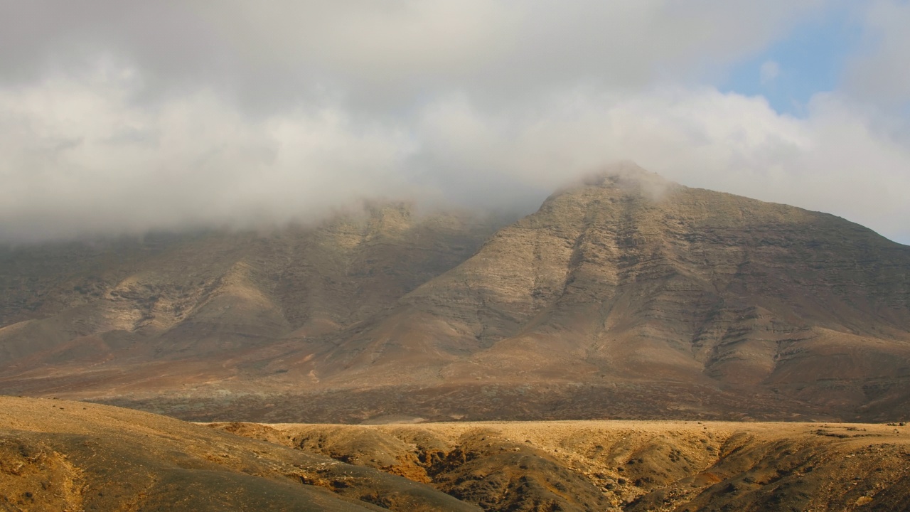
[[400, 476], [202, 425], [12, 397], [0, 397], [0, 509], [478, 510]]

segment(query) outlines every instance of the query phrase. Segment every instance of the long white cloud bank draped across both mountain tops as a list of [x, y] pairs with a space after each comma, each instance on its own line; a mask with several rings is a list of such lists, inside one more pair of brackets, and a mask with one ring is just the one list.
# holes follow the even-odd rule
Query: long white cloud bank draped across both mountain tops
[[843, 96], [806, 118], [712, 87], [581, 87], [495, 112], [451, 95], [394, 122], [341, 105], [251, 120], [206, 89], [136, 105], [137, 83], [102, 67], [0, 93], [0, 236], [313, 218], [378, 195], [495, 206], [634, 159], [910, 240], [910, 148]]

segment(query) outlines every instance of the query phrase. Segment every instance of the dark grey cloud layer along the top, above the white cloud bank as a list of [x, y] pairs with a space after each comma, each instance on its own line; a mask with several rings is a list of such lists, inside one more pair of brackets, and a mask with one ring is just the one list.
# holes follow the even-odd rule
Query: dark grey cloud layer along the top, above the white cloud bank
[[[248, 104], [329, 94], [412, 108], [440, 91], [501, 102], [591, 82], [698, 77], [784, 34], [822, 0], [317, 0], [5, 2], [0, 68], [36, 79], [97, 56], [136, 67], [147, 94], [187, 84]], [[271, 98], [271, 99], [269, 99]]]

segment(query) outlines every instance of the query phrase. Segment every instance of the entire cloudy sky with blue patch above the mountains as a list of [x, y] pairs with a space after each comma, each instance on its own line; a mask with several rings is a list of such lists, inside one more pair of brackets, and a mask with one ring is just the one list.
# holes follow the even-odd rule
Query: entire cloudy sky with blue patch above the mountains
[[910, 243], [907, 0], [0, 0], [0, 241], [532, 211], [634, 160]]

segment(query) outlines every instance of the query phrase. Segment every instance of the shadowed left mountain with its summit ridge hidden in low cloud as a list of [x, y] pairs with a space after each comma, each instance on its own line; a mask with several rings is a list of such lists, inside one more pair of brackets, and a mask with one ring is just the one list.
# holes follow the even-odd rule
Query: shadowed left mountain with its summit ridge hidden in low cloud
[[[0, 250], [7, 394], [235, 378], [466, 260], [494, 216], [368, 205], [317, 226], [155, 233]], [[8, 383], [15, 384], [8, 384]]]

